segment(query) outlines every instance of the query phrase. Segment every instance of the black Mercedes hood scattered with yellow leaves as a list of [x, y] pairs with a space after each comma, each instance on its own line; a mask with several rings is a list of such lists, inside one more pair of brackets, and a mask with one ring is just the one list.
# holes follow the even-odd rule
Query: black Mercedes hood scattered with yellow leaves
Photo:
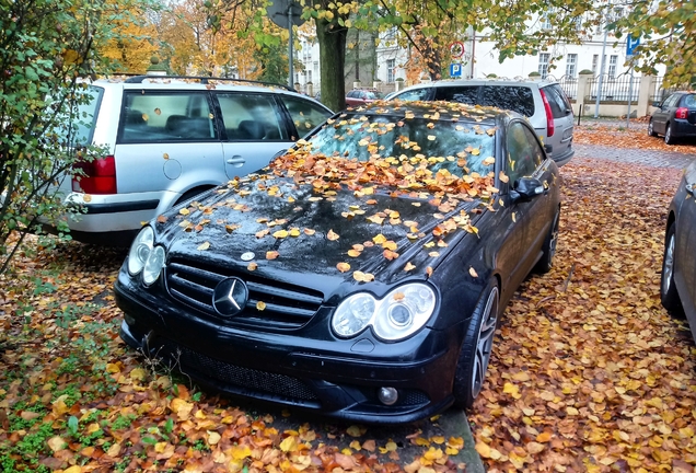
[[374, 277], [370, 290], [379, 295], [403, 279], [426, 279], [475, 231], [480, 210], [473, 210], [483, 208], [478, 200], [393, 191], [337, 185], [317, 194], [289, 178], [252, 178], [173, 209], [154, 226], [169, 261], [253, 270], [321, 291], [325, 300], [364, 284], [362, 273]]

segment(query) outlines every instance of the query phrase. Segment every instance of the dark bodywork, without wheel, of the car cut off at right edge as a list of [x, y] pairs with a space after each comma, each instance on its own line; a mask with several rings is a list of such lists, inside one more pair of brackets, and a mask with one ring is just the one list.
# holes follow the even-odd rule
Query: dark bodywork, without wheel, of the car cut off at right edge
[[[674, 241], [674, 279], [687, 314], [696, 314], [696, 165], [687, 168], [686, 198], [680, 205]], [[696, 336], [696, 321], [689, 321]]]

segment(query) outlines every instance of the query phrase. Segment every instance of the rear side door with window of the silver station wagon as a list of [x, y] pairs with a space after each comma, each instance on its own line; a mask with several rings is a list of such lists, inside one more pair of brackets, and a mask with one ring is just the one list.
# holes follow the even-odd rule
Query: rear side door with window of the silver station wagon
[[292, 146], [274, 94], [216, 92], [222, 126], [222, 160], [228, 178], [266, 166], [279, 151]]

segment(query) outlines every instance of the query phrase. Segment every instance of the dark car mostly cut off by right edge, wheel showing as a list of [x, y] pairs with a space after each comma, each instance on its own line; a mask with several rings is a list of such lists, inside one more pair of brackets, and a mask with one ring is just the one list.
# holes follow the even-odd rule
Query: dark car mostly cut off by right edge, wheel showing
[[686, 171], [670, 204], [662, 282], [662, 305], [684, 313], [696, 341], [696, 161]]

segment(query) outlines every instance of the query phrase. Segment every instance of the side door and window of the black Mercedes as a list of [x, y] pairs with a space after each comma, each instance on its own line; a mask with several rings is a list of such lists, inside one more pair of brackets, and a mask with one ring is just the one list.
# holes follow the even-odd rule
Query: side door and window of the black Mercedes
[[[507, 175], [512, 192], [508, 206], [511, 219], [518, 223], [515, 265], [510, 272], [510, 286], [518, 287], [536, 263], [556, 209], [549, 187], [556, 178], [536, 132], [524, 122], [510, 122], [506, 138]], [[555, 169], [555, 168], [554, 168]], [[544, 191], [532, 198], [514, 197], [521, 177], [537, 178]]]

